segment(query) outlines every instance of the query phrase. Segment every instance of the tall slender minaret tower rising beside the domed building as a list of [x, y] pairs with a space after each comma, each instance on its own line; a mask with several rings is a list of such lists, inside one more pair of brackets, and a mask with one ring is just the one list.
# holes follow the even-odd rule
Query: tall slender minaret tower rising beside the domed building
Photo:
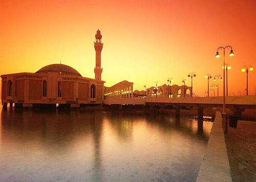
[[94, 73], [95, 73], [95, 80], [101, 81], [101, 73], [102, 73], [102, 68], [101, 68], [101, 50], [103, 47], [103, 44], [101, 43], [101, 37], [99, 29], [97, 30], [97, 34], [95, 34], [96, 42], [94, 42], [94, 48], [96, 51], [96, 66], [94, 68]]

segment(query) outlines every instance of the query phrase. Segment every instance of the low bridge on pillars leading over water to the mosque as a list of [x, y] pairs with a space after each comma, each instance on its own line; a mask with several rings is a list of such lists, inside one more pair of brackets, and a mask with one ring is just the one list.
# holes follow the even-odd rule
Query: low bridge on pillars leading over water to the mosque
[[[256, 109], [256, 95], [226, 96], [225, 107], [229, 108], [235, 116], [242, 117], [245, 109]], [[148, 105], [151, 109], [158, 105], [161, 109], [173, 106], [176, 114], [180, 114], [181, 107], [194, 107], [198, 110], [198, 119], [203, 118], [204, 108], [222, 108], [223, 96], [216, 97], [175, 97], [175, 98], [105, 98], [105, 105]]]

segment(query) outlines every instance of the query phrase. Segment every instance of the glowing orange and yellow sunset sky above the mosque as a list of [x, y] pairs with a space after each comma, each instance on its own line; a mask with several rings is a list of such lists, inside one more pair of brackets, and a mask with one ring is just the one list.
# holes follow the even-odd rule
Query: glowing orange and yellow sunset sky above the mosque
[[[0, 0], [0, 75], [36, 72], [66, 64], [94, 78], [96, 31], [102, 35], [102, 80], [123, 80], [134, 90], [167, 83], [191, 86], [206, 96], [213, 77], [223, 76], [223, 49], [229, 63], [228, 95], [256, 92], [256, 1], [2, 1]], [[223, 81], [219, 95], [223, 95]]]

